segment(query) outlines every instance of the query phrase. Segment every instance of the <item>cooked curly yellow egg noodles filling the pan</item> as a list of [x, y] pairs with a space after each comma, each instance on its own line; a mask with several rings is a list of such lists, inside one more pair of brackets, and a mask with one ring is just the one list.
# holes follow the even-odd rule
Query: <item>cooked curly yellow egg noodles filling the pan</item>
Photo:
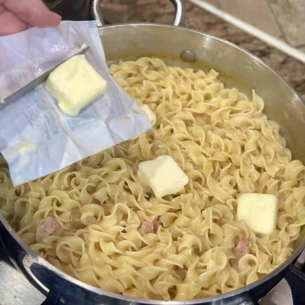
[[[156, 58], [109, 69], [157, 122], [137, 138], [16, 188], [2, 159], [0, 209], [24, 242], [83, 282], [157, 300], [229, 292], [287, 260], [305, 224], [305, 167], [291, 160], [279, 125], [263, 114], [263, 99], [224, 88], [214, 70]], [[188, 183], [156, 198], [137, 170], [160, 155], [173, 157]], [[277, 196], [271, 235], [237, 221], [236, 198], [245, 192]], [[56, 222], [50, 229], [42, 226], [48, 217]], [[145, 221], [156, 231], [147, 233]], [[248, 240], [249, 251], [241, 253], [236, 239]]]

